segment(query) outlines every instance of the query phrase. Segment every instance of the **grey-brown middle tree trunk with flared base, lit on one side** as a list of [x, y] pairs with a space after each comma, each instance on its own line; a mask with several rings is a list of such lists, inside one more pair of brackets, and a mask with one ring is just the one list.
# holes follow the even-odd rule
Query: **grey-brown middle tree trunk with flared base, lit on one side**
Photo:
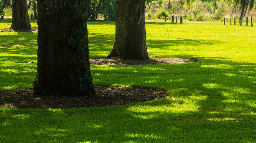
[[116, 39], [107, 57], [148, 58], [145, 0], [117, 0], [116, 2]]

